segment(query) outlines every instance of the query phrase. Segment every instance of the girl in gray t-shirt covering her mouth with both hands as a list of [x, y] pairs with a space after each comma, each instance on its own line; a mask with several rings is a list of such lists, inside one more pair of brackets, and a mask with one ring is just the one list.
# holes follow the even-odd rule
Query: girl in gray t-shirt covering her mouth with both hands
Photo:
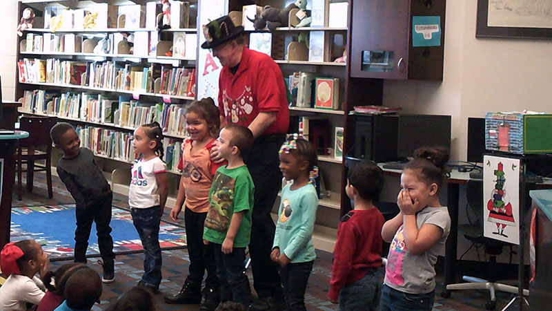
[[439, 200], [449, 152], [418, 149], [401, 175], [400, 213], [386, 221], [382, 238], [391, 243], [385, 267], [381, 309], [431, 310], [435, 263], [443, 256], [451, 228], [449, 211]]

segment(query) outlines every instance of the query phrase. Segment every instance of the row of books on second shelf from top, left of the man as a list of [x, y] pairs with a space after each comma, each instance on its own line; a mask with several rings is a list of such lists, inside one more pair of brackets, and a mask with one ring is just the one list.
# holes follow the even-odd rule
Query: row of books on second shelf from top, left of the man
[[[133, 36], [115, 32], [105, 34], [103, 37], [74, 33], [38, 35], [28, 32], [24, 42], [24, 46], [21, 44], [21, 52], [27, 53], [95, 53], [137, 57], [164, 56], [170, 50], [171, 44], [171, 41], [159, 41], [159, 33], [156, 31], [135, 32]], [[173, 57], [195, 59], [196, 49], [197, 34], [185, 32], [172, 34]]]

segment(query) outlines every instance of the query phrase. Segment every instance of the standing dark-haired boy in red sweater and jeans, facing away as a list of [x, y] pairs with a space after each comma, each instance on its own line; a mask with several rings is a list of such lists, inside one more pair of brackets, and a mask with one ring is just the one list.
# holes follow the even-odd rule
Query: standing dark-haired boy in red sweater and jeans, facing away
[[382, 169], [374, 162], [355, 163], [348, 171], [347, 196], [354, 210], [341, 219], [333, 251], [328, 298], [339, 310], [375, 310], [380, 303], [382, 276], [382, 226], [384, 216], [374, 202], [384, 186]]

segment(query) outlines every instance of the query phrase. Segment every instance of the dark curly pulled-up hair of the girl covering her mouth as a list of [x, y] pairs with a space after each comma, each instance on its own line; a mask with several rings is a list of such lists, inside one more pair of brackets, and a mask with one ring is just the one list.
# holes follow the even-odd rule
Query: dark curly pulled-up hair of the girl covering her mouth
[[404, 169], [419, 171], [420, 179], [427, 185], [435, 183], [437, 189], [441, 189], [444, 180], [449, 177], [449, 169], [446, 167], [449, 158], [449, 150], [445, 147], [422, 147], [414, 151], [414, 159]]

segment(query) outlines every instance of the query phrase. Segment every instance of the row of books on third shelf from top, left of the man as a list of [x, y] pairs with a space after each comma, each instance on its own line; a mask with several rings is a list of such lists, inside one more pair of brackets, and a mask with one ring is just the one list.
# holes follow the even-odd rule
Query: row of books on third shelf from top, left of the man
[[73, 84], [172, 96], [195, 95], [195, 68], [170, 65], [137, 66], [115, 61], [74, 62], [61, 59], [23, 59], [19, 82]]

